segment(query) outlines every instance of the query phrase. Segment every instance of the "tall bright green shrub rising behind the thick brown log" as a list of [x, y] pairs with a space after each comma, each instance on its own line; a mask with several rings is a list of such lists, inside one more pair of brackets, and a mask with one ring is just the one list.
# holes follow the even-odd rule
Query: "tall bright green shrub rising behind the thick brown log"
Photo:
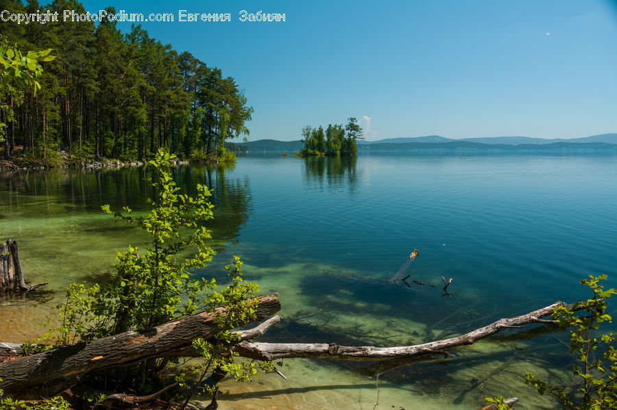
[[[173, 155], [160, 150], [150, 162], [156, 170], [156, 198], [149, 199], [152, 209], [147, 215], [135, 216], [129, 207], [122, 212], [112, 212], [109, 205], [102, 207], [144, 229], [148, 248], [141, 252], [129, 246], [119, 251], [117, 273], [107, 287], [69, 286], [66, 303], [59, 305], [62, 324], [53, 329], [60, 344], [147, 329], [206, 307], [200, 298], [215, 287], [214, 279], [196, 281], [189, 274], [206, 266], [214, 254], [206, 244], [210, 231], [203, 225], [213, 217], [214, 205], [204, 185], [197, 185], [195, 198], [178, 193], [169, 172], [172, 159]], [[189, 249], [192, 255], [182, 258]]]

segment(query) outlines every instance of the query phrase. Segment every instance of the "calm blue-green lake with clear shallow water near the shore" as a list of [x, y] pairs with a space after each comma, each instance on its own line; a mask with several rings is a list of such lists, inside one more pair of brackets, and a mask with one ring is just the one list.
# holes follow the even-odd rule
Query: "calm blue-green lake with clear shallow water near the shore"
[[[238, 255], [245, 279], [280, 293], [282, 322], [263, 341], [419, 344], [588, 298], [589, 274], [617, 287], [617, 155], [253, 155], [174, 177], [189, 194], [206, 183], [217, 207], [219, 255], [195, 275], [224, 281]], [[104, 283], [114, 250], [144, 236], [101, 205], [142, 211], [151, 194], [144, 168], [0, 172], [2, 236], [19, 241], [28, 281], [49, 282], [3, 300], [1, 341], [42, 333], [71, 281]], [[409, 286], [388, 281], [415, 248]], [[396, 366], [285, 359], [289, 382], [225, 381], [219, 409], [476, 409], [495, 395], [558, 408], [522, 381], [572, 381], [568, 333], [516, 333]]]

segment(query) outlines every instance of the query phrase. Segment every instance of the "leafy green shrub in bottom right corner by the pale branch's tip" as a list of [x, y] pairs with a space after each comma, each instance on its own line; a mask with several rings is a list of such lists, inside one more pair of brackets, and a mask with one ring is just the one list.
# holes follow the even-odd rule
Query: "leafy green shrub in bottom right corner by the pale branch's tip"
[[[538, 379], [533, 373], [527, 373], [525, 383], [535, 387], [540, 394], [555, 396], [563, 409], [592, 410], [617, 408], [617, 352], [613, 342], [613, 333], [597, 335], [602, 322], [611, 322], [606, 313], [606, 300], [617, 293], [615, 289], [605, 290], [600, 284], [607, 279], [605, 274], [581, 280], [581, 285], [588, 285], [594, 296], [574, 305], [574, 309], [558, 307], [553, 318], [559, 320], [560, 326], [572, 327], [570, 330], [570, 353], [576, 352], [577, 365], [572, 366], [574, 376], [581, 381], [582, 387], [575, 397], [568, 396], [563, 387], [554, 387]], [[575, 310], [583, 307], [585, 314], [577, 316]], [[594, 359], [601, 355], [601, 358]]]

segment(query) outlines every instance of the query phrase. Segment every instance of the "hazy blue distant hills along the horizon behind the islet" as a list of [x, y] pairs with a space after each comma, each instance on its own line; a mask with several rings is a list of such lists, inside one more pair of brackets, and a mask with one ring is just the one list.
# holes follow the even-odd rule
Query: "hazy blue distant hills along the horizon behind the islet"
[[[606, 133], [584, 138], [488, 137], [455, 140], [441, 136], [388, 138], [386, 140], [359, 140], [359, 151], [615, 151], [617, 133]], [[231, 149], [256, 152], [295, 152], [302, 149], [302, 141], [257, 140], [245, 144], [230, 143]]]

